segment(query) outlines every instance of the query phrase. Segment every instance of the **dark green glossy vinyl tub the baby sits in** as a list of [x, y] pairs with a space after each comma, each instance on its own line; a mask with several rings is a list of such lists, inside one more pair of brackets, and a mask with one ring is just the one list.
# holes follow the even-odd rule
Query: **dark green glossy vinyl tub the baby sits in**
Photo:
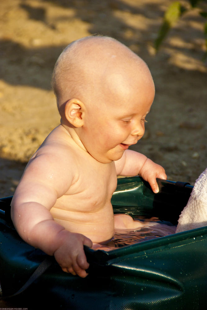
[[[158, 183], [160, 193], [154, 194], [139, 177], [118, 179], [114, 212], [155, 216], [176, 224], [193, 187], [161, 179]], [[83, 279], [62, 272], [53, 258], [21, 240], [11, 224], [10, 201], [11, 197], [0, 199], [2, 305], [9, 302], [10, 307], [29, 310], [206, 308], [207, 227], [109, 252], [86, 248], [90, 267]], [[50, 267], [12, 297], [45, 259]]]

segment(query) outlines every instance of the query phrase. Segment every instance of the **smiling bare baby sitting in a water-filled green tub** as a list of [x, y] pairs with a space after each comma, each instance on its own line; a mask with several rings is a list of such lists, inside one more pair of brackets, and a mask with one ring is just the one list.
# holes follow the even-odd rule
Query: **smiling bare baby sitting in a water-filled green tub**
[[[106, 245], [114, 229], [143, 225], [113, 214], [117, 175], [140, 175], [159, 191], [164, 169], [128, 150], [142, 138], [154, 100], [151, 73], [115, 39], [72, 42], [58, 58], [52, 85], [61, 124], [29, 160], [11, 203], [19, 235], [54, 255], [65, 272], [86, 277], [83, 245]], [[48, 117], [48, 116], [46, 116]]]

